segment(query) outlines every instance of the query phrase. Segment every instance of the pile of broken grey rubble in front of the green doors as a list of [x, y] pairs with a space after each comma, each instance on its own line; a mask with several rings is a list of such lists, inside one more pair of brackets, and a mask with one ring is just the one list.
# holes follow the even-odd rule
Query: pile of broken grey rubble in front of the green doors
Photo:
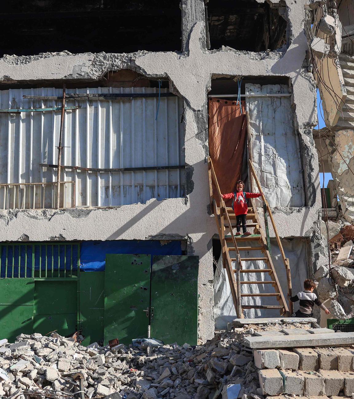
[[253, 333], [249, 327], [234, 328], [195, 347], [129, 348], [86, 347], [57, 333], [21, 334], [14, 344], [0, 341], [0, 397], [77, 398], [83, 377], [85, 398], [216, 399], [237, 389], [239, 398], [260, 399], [252, 352], [241, 345]]

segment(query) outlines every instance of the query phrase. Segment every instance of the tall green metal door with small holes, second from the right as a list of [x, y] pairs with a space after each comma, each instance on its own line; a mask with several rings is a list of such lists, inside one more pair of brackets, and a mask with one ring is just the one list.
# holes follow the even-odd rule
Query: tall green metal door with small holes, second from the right
[[149, 326], [150, 255], [106, 255], [104, 343], [118, 338], [129, 345], [146, 338]]

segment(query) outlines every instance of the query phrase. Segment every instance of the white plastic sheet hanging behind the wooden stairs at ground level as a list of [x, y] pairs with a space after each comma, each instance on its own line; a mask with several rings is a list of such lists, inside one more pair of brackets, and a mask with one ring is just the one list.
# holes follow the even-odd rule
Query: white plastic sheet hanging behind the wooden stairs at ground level
[[[287, 298], [288, 283], [286, 280], [286, 271], [283, 263], [283, 259], [280, 254], [279, 247], [276, 240], [271, 240], [272, 248], [272, 261], [276, 269], [280, 286], [282, 287], [283, 293]], [[306, 242], [303, 239], [295, 238], [292, 240], [282, 239], [282, 244], [286, 257], [289, 258], [290, 269], [291, 269], [291, 281], [293, 288], [293, 295], [303, 290], [303, 281], [307, 279], [307, 257], [306, 257]], [[247, 243], [247, 246], [255, 245]], [[243, 253], [244, 257], [258, 257], [262, 256], [260, 251], [251, 251]], [[231, 257], [233, 253], [231, 252]], [[263, 261], [243, 262], [244, 269], [266, 269], [267, 264]], [[221, 272], [221, 273], [219, 273]], [[242, 273], [241, 279], [246, 280], [270, 280], [268, 273]], [[275, 292], [271, 284], [242, 284], [241, 292], [245, 293], [263, 293], [263, 292]], [[260, 305], [278, 305], [279, 302], [276, 297], [243, 297], [242, 304], [255, 304]], [[294, 310], [298, 308], [298, 302], [294, 304]], [[274, 309], [246, 309], [244, 310], [244, 316], [246, 318], [257, 318], [257, 317], [276, 317], [279, 315], [278, 310]], [[236, 310], [233, 304], [229, 280], [225, 269], [223, 269], [222, 259], [220, 257], [218, 262], [218, 268], [216, 269], [214, 276], [214, 316], [215, 316], [215, 328], [226, 329], [227, 323], [237, 318]]]

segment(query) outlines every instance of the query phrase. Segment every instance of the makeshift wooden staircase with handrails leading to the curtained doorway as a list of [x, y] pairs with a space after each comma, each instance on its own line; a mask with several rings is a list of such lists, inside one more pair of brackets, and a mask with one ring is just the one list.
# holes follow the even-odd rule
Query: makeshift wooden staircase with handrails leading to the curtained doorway
[[[239, 318], [243, 318], [244, 309], [278, 309], [282, 316], [290, 316], [290, 314], [293, 312], [292, 303], [289, 302], [290, 306], [290, 311], [289, 311], [286, 298], [282, 292], [282, 288], [280, 286], [272, 262], [270, 235], [268, 228], [268, 215], [273, 225], [273, 230], [276, 235], [280, 252], [282, 253], [284, 266], [286, 268], [287, 281], [288, 281], [288, 294], [289, 296], [291, 296], [291, 276], [290, 276], [289, 260], [285, 257], [282, 243], [280, 241], [278, 231], [274, 224], [273, 215], [270, 211], [269, 205], [264, 195], [262, 195], [263, 210], [264, 210], [264, 229], [260, 224], [260, 218], [257, 212], [257, 207], [255, 206], [254, 199], [251, 198], [250, 199], [251, 206], [248, 207], [248, 214], [246, 216], [246, 221], [247, 221], [247, 228], [248, 229], [253, 228], [253, 234], [248, 236], [243, 236], [243, 235], [235, 236], [233, 232], [233, 230], [236, 228], [235, 213], [232, 208], [225, 206], [225, 202], [221, 197], [222, 193], [220, 192], [219, 184], [217, 182], [217, 177], [215, 175], [213, 163], [210, 157], [208, 159], [208, 163], [209, 163], [209, 188], [210, 188], [211, 207], [215, 215], [215, 221], [217, 224], [217, 229], [219, 232], [219, 237], [221, 242], [223, 267], [226, 269], [227, 272], [227, 276], [231, 287], [231, 294], [237, 312], [237, 316]], [[249, 176], [251, 176], [252, 174], [254, 180], [256, 181], [259, 192], [263, 194], [262, 188], [259, 184], [258, 178], [255, 174], [251, 162], [249, 162], [249, 170], [250, 170]], [[214, 183], [214, 186], [216, 187], [217, 190], [217, 196], [218, 198], [220, 198], [219, 206], [217, 206], [217, 203], [213, 198], [212, 183]], [[261, 252], [262, 255], [259, 255], [259, 252]], [[250, 257], [248, 257], [246, 256], [246, 254], [248, 253], [251, 254], [255, 253], [256, 255], [251, 255]], [[264, 268], [247, 269], [246, 267], [244, 267], [244, 262], [247, 261], [263, 262]], [[235, 262], [235, 268], [233, 267], [233, 262]], [[257, 264], [259, 265], [260, 263]], [[254, 278], [254, 280], [248, 280], [244, 278], [246, 275], [249, 275], [250, 273], [255, 273], [256, 277]], [[268, 275], [270, 276], [270, 280], [262, 280], [262, 275], [260, 275], [260, 273], [268, 273]], [[259, 278], [257, 278], [258, 276]], [[243, 284], [257, 284], [257, 285], [266, 284], [266, 287], [269, 286], [270, 292], [241, 293], [241, 285]], [[276, 300], [278, 300], [279, 304], [278, 305], [243, 304], [242, 298], [246, 297], [254, 297], [254, 298], [274, 297], [276, 298]]]

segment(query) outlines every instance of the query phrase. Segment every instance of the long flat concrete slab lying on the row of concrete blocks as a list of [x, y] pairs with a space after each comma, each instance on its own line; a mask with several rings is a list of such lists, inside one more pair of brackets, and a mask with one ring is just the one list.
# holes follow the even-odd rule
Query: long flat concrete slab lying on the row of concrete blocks
[[304, 334], [246, 337], [244, 344], [248, 348], [301, 348], [313, 346], [341, 346], [354, 344], [354, 332], [336, 332], [336, 334]]

